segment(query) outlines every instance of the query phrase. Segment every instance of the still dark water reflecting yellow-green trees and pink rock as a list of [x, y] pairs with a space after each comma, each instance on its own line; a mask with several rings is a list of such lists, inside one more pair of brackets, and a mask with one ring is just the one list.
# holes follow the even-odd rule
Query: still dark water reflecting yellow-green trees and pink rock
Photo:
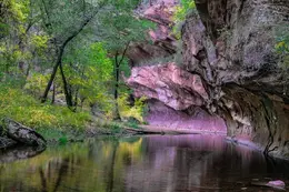
[[30, 153], [0, 152], [0, 192], [269, 192], [250, 183], [276, 179], [289, 185], [289, 162], [217, 135], [98, 138]]

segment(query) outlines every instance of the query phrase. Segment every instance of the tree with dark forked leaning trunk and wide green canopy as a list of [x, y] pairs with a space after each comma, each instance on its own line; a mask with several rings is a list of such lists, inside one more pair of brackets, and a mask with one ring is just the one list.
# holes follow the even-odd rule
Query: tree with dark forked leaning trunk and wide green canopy
[[[92, 2], [92, 3], [91, 3]], [[120, 42], [121, 38], [126, 37], [119, 33], [120, 28], [122, 32], [132, 33], [136, 28], [131, 28], [130, 20], [133, 14], [132, 9], [136, 8], [138, 0], [122, 0], [122, 1], [82, 1], [82, 0], [64, 0], [61, 2], [51, 2], [49, 0], [41, 0], [41, 10], [43, 12], [43, 23], [48, 33], [53, 37], [56, 44], [57, 59], [50, 80], [47, 84], [46, 91], [42, 95], [42, 102], [47, 100], [48, 93], [51, 89], [52, 82], [56, 78], [58, 69], [60, 70], [63, 91], [66, 94], [67, 105], [73, 107], [72, 95], [69, 91], [69, 83], [63, 72], [63, 54], [66, 49], [76, 41], [77, 43], [87, 43], [90, 41], [104, 41], [109, 44], [110, 50], [120, 51], [119, 44], [126, 47], [133, 38]], [[97, 17], [96, 17], [97, 16]], [[112, 18], [113, 23], [107, 23]], [[110, 22], [109, 21], [109, 22]], [[127, 23], [129, 21], [129, 23]], [[123, 23], [119, 26], [119, 23]], [[116, 24], [117, 27], [112, 27]], [[129, 29], [130, 31], [126, 31]], [[132, 36], [131, 36], [132, 37]], [[116, 41], [118, 40], [118, 41]], [[76, 44], [76, 43], [74, 43]], [[117, 57], [120, 53], [117, 53]], [[117, 63], [123, 61], [123, 58]], [[73, 63], [71, 63], [73, 65]], [[119, 77], [119, 75], [118, 75]]]

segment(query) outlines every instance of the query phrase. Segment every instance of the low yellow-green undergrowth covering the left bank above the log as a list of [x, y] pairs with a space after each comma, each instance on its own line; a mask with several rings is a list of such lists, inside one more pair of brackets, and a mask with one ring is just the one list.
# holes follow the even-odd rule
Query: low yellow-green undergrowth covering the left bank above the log
[[0, 118], [11, 118], [31, 128], [81, 129], [90, 121], [84, 111], [71, 112], [64, 107], [40, 104], [20, 89], [0, 84]]

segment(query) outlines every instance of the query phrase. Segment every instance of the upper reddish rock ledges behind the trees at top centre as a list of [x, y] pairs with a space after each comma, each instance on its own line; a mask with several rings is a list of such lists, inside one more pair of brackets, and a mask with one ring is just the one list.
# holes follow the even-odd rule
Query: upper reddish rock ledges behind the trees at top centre
[[157, 24], [150, 30], [152, 43], [134, 43], [128, 50], [131, 65], [141, 65], [153, 58], [169, 57], [176, 52], [176, 39], [171, 34], [171, 17], [179, 0], [150, 0], [142, 2], [138, 10], [139, 16]]

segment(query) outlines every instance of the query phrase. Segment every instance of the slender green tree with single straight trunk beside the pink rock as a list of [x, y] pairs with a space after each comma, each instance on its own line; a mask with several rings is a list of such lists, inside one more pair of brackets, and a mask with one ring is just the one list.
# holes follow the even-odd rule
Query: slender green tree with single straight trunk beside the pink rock
[[120, 81], [121, 69], [128, 68], [127, 51], [130, 46], [141, 41], [149, 41], [148, 30], [153, 29], [155, 24], [147, 20], [138, 18], [132, 9], [110, 9], [110, 14], [103, 14], [101, 18], [103, 26], [102, 41], [109, 53], [113, 55], [113, 77], [114, 77], [114, 119], [120, 119], [118, 99], [119, 88], [123, 82]]

